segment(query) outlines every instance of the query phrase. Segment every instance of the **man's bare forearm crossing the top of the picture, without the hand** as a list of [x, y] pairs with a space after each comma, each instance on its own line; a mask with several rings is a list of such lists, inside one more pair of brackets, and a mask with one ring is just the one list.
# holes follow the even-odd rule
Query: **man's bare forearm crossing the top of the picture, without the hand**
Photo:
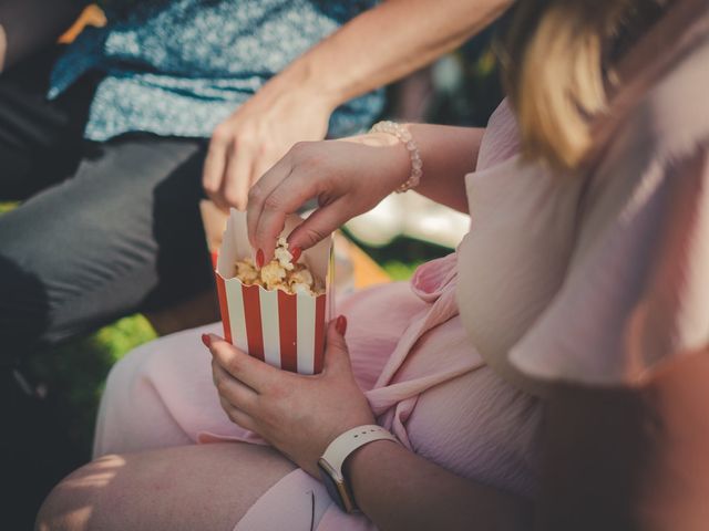
[[389, 0], [345, 24], [264, 88], [297, 87], [333, 110], [454, 50], [512, 0]]

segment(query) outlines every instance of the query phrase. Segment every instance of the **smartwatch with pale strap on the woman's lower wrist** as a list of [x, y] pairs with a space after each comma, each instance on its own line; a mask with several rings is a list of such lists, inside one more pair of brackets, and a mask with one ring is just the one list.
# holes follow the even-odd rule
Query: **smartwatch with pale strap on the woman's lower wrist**
[[322, 457], [318, 460], [320, 477], [328, 490], [328, 494], [345, 512], [356, 512], [358, 508], [352, 489], [342, 475], [342, 465], [354, 450], [376, 440], [399, 442], [393, 435], [381, 426], [376, 424], [358, 426], [345, 431], [330, 442]]

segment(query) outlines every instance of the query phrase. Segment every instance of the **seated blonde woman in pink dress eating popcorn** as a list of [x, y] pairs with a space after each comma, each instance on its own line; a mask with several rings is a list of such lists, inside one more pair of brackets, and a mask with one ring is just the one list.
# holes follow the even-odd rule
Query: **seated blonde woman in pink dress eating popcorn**
[[[312, 197], [294, 250], [402, 186], [471, 231], [410, 284], [342, 302], [318, 376], [219, 325], [137, 348], [110, 376], [96, 460], [38, 528], [705, 529], [709, 8], [623, 7], [520, 2], [486, 131], [296, 145], [249, 195], [258, 261]], [[339, 456], [328, 492], [318, 459], [361, 426], [398, 444]]]

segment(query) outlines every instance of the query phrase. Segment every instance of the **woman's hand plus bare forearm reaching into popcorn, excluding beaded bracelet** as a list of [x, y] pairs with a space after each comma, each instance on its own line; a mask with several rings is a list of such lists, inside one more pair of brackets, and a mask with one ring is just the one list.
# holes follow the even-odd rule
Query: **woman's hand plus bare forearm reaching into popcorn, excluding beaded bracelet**
[[[474, 169], [471, 154], [450, 157], [451, 146], [476, 145], [483, 129], [413, 124], [424, 170], [415, 190], [436, 202], [467, 211], [463, 176]], [[475, 154], [473, 154], [475, 155]], [[289, 249], [308, 249], [338, 227], [377, 206], [411, 175], [407, 147], [388, 133], [370, 133], [338, 140], [296, 144], [251, 188], [248, 237], [264, 263], [275, 251], [288, 214], [309, 199], [318, 209], [289, 236]]]

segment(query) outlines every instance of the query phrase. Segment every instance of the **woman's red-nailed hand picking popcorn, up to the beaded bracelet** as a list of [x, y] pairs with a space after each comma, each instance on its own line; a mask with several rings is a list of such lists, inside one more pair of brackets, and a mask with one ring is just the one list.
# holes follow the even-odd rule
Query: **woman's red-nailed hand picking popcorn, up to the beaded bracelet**
[[268, 263], [286, 215], [317, 198], [319, 208], [288, 237], [291, 249], [308, 249], [377, 206], [407, 180], [410, 169], [407, 148], [388, 134], [298, 143], [251, 188], [251, 246]]

